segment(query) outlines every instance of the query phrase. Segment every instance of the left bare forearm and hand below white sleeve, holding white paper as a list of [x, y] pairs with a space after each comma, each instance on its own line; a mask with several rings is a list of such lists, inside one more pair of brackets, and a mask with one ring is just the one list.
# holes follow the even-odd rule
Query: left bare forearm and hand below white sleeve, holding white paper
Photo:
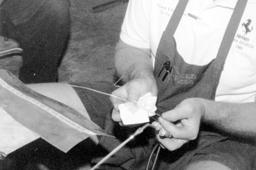
[[[154, 96], [157, 95], [149, 49], [136, 48], [120, 40], [116, 47], [115, 67], [125, 85], [116, 89], [112, 93], [113, 96], [127, 101], [136, 101], [147, 92], [151, 92]], [[120, 122], [118, 106], [124, 103], [124, 100], [111, 97], [111, 101], [114, 106], [112, 118]]]

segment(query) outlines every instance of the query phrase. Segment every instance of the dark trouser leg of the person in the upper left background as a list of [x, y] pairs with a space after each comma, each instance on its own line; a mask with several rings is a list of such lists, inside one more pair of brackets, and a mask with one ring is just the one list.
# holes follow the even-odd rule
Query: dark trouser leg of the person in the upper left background
[[70, 33], [68, 0], [4, 0], [1, 34], [24, 50], [19, 79], [24, 83], [57, 81]]

